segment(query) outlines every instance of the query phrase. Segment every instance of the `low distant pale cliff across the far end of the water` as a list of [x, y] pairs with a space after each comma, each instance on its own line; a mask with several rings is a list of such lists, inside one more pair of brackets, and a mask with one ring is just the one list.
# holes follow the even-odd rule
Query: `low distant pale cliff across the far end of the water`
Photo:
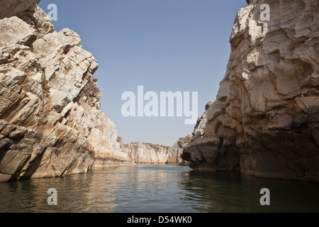
[[172, 149], [152, 143], [130, 143], [121, 147], [121, 151], [137, 164], [165, 164]]

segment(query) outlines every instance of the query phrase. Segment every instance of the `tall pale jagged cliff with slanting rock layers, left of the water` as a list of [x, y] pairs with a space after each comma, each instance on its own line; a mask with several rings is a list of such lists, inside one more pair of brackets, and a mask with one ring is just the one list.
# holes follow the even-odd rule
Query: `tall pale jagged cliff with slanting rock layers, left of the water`
[[130, 164], [99, 109], [95, 58], [37, 3], [0, 1], [0, 181]]

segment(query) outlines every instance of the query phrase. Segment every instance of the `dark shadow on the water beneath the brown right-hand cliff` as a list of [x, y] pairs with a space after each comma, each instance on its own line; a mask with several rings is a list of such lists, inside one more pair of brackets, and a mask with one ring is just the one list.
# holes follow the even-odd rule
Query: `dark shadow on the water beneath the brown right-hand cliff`
[[[319, 184], [242, 176], [240, 172], [189, 172], [181, 183], [201, 212], [319, 212]], [[270, 191], [262, 206], [260, 190]]]

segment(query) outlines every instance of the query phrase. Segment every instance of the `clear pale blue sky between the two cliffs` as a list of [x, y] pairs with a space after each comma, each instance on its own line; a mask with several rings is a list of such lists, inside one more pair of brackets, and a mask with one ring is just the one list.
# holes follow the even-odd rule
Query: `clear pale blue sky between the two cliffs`
[[191, 134], [183, 117], [128, 117], [123, 92], [198, 92], [198, 115], [214, 101], [230, 55], [228, 42], [245, 0], [43, 0], [57, 5], [56, 31], [69, 28], [99, 63], [94, 77], [101, 110], [116, 123], [124, 143], [172, 146]]

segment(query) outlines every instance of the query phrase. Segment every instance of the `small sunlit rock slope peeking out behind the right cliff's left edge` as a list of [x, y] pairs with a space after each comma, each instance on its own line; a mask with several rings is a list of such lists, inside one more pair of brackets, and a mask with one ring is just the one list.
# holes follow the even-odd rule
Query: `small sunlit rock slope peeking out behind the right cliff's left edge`
[[181, 153], [183, 153], [186, 145], [191, 142], [191, 138], [191, 135], [186, 135], [185, 137], [179, 138], [177, 142], [174, 143], [167, 157], [167, 164], [188, 165], [188, 162], [186, 163], [185, 160], [181, 158]]

